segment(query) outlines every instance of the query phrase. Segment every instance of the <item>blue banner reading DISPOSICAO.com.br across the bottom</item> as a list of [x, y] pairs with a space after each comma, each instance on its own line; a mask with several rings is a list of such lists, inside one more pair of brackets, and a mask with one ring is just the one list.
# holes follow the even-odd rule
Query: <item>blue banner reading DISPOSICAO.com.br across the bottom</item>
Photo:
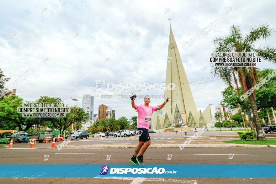
[[0, 165], [0, 177], [276, 177], [274, 164]]

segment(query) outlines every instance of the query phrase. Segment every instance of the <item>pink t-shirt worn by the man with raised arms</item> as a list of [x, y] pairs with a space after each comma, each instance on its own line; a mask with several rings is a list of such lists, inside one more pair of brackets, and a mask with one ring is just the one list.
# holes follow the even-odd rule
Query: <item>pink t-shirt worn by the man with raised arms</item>
[[157, 107], [152, 106], [147, 107], [144, 104], [136, 105], [136, 111], [138, 111], [138, 128], [150, 129], [151, 122], [149, 120], [146, 121], [146, 116], [147, 118], [151, 118], [151, 115], [156, 111], [156, 108]]

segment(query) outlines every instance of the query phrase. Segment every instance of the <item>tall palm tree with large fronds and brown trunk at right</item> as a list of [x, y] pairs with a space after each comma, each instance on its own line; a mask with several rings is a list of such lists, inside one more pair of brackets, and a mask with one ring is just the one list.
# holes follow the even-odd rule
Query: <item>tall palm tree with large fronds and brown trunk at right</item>
[[[214, 52], [255, 52], [259, 57], [262, 57], [269, 62], [275, 63], [276, 48], [270, 46], [261, 46], [259, 48], [254, 47], [255, 41], [259, 39], [268, 39], [272, 33], [273, 29], [270, 29], [268, 24], [259, 24], [257, 28], [252, 28], [251, 31], [249, 31], [248, 34], [246, 34], [243, 38], [239, 27], [233, 25], [230, 30], [230, 35], [214, 39]], [[214, 54], [215, 53], [213, 53], [212, 55]], [[258, 82], [256, 67], [216, 67], [213, 65], [212, 74], [214, 76], [220, 77], [227, 84], [228, 87], [233, 87], [234, 82], [239, 97], [240, 92], [236, 75], [238, 76], [242, 91], [244, 93], [251, 89]], [[254, 117], [253, 121], [258, 133], [258, 131], [261, 131], [262, 128], [257, 113], [257, 106], [255, 103], [255, 91], [247, 98], [251, 105]], [[259, 137], [258, 134], [257, 139], [266, 140], [264, 136]]]

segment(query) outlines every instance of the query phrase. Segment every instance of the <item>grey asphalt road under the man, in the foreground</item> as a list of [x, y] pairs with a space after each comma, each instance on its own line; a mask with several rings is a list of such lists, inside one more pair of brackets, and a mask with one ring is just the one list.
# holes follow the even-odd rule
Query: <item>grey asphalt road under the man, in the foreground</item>
[[[133, 148], [120, 149], [5, 149], [0, 164], [129, 164]], [[149, 148], [145, 164], [276, 164], [276, 148]], [[229, 159], [229, 154], [234, 154]], [[49, 155], [44, 161], [44, 155]], [[106, 160], [111, 155], [110, 160]], [[168, 155], [172, 155], [171, 160]], [[257, 177], [166, 177], [166, 178], [70, 178], [11, 177], [0, 183], [275, 183], [275, 178]]]

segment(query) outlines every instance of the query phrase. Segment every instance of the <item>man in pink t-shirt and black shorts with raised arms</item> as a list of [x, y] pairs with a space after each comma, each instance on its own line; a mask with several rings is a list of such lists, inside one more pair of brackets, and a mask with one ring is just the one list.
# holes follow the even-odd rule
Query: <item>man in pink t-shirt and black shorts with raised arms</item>
[[[151, 138], [149, 135], [151, 115], [154, 111], [158, 111], [162, 109], [165, 106], [165, 104], [169, 101], [169, 97], [167, 97], [165, 102], [159, 105], [158, 107], [149, 106], [151, 102], [151, 98], [148, 95], [144, 97], [145, 104], [141, 104], [141, 105], [136, 105], [134, 103], [135, 97], [136, 95], [135, 94], [133, 95], [132, 93], [132, 97], [130, 98], [131, 105], [133, 108], [135, 108], [135, 110], [138, 111], [137, 130], [142, 131], [142, 134], [139, 136], [139, 144], [136, 146], [134, 155], [130, 158], [130, 162], [135, 164], [136, 166], [137, 165], [145, 166], [143, 161], [143, 155], [146, 149], [149, 147], [149, 145], [151, 145]], [[137, 156], [140, 150], [141, 150], [141, 153], [139, 156]]]

